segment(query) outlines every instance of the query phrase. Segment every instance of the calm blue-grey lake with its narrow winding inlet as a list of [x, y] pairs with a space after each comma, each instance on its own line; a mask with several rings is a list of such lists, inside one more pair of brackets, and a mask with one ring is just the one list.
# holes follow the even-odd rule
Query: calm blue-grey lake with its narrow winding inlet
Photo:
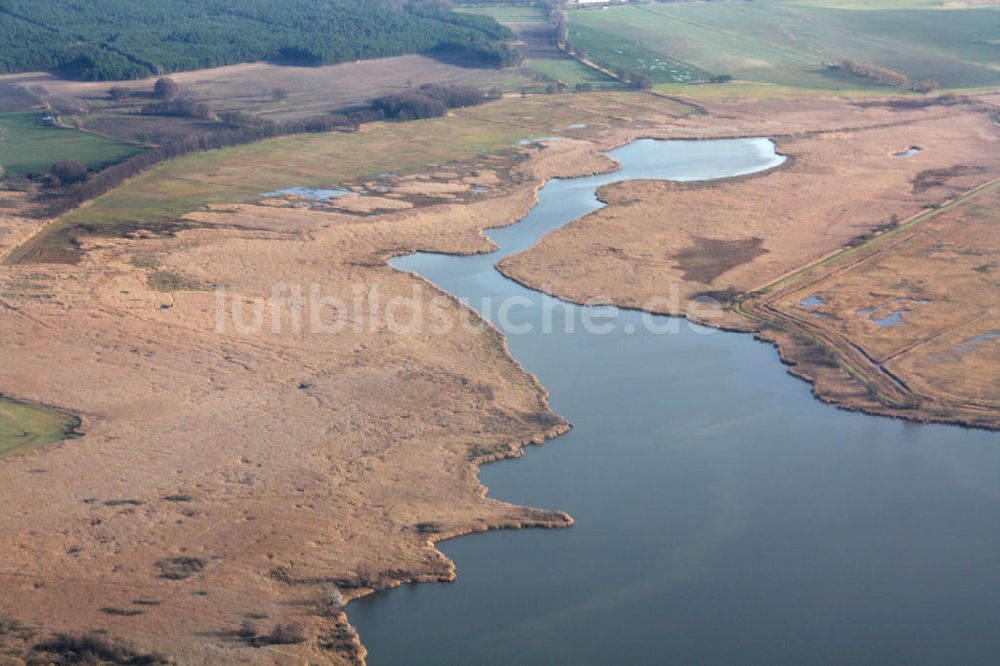
[[372, 666], [1000, 663], [1000, 435], [823, 405], [749, 335], [617, 310], [565, 334], [581, 308], [493, 267], [599, 208], [598, 185], [748, 173], [773, 148], [637, 141], [622, 171], [551, 181], [496, 253], [393, 262], [473, 305], [530, 299], [511, 352], [574, 427], [481, 476], [576, 525], [442, 543], [457, 582], [350, 604]]

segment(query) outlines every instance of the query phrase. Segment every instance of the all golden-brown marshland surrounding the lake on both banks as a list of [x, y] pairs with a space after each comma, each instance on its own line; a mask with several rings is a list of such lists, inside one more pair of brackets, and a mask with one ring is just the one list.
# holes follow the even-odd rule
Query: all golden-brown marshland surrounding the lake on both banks
[[[752, 307], [746, 294], [783, 276], [793, 288], [803, 266], [896, 216], [893, 238], [909, 245], [802, 297], [829, 292], [830, 324], [803, 311], [798, 294], [775, 307], [805, 312], [830, 340], [869, 345], [920, 391], [994, 400], [994, 385], [962, 375], [996, 344], [983, 337], [995, 313], [968, 320], [972, 294], [996, 292], [995, 191], [905, 226], [1000, 175], [994, 111], [977, 100], [757, 100], [695, 111], [644, 93], [510, 98], [192, 155], [41, 230], [36, 222], [39, 233], [8, 255], [28, 261], [0, 265], [0, 392], [79, 415], [84, 436], [0, 462], [0, 615], [43, 633], [103, 629], [184, 664], [359, 663], [350, 606], [327, 604], [334, 588], [350, 600], [450, 580], [438, 539], [568, 525], [559, 507], [500, 502], [479, 483], [479, 464], [567, 427], [493, 328], [474, 317], [444, 335], [366, 326], [377, 307], [367, 300], [337, 335], [302, 334], [286, 301], [269, 310], [276, 330], [243, 330], [219, 326], [219, 298], [249, 311], [278, 283], [321, 285], [347, 302], [359, 286], [383, 303], [441, 297], [387, 259], [488, 251], [482, 230], [520, 219], [547, 178], [612, 170], [602, 151], [637, 137], [772, 136], [790, 159], [708, 185], [609, 186], [607, 208], [505, 262], [506, 272], [572, 300], [641, 305], [674, 281], [685, 297], [713, 292]], [[577, 125], [586, 127], [569, 129]], [[519, 144], [553, 134], [566, 140]], [[912, 145], [922, 151], [894, 157]], [[354, 195], [314, 206], [264, 196], [297, 185]], [[11, 245], [26, 235], [21, 223], [15, 235]], [[67, 250], [76, 263], [41, 261]], [[938, 275], [947, 283], [928, 283]], [[873, 331], [848, 305], [834, 309], [840, 289], [871, 307], [910, 299], [909, 319]], [[970, 296], [946, 299], [944, 289]], [[944, 307], [931, 313], [918, 298]], [[924, 311], [933, 323], [917, 323]], [[470, 314], [445, 298], [441, 316], [457, 324]], [[736, 311], [714, 323], [777, 339], [822, 397], [879, 408], [864, 383], [801, 342], [801, 329], [762, 328]], [[934, 356], [957, 352], [951, 365]], [[247, 620], [262, 632], [298, 624], [305, 641], [252, 647], [240, 636]], [[5, 640], [11, 653], [23, 647]]]

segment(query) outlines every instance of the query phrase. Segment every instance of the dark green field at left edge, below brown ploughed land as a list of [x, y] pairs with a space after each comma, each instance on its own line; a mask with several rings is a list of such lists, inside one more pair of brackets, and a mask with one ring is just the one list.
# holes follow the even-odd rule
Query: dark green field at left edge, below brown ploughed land
[[0, 166], [8, 174], [37, 174], [56, 162], [80, 160], [99, 169], [143, 150], [66, 127], [44, 127], [38, 111], [0, 113]]

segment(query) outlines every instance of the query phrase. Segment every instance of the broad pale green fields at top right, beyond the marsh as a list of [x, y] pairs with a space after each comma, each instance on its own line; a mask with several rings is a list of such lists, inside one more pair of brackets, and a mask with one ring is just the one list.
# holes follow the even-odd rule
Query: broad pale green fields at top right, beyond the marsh
[[726, 74], [806, 89], [876, 87], [824, 66], [850, 58], [914, 82], [935, 79], [947, 89], [1000, 86], [995, 7], [756, 0], [579, 10], [567, 17], [570, 39], [591, 59], [645, 71], [660, 84]]

